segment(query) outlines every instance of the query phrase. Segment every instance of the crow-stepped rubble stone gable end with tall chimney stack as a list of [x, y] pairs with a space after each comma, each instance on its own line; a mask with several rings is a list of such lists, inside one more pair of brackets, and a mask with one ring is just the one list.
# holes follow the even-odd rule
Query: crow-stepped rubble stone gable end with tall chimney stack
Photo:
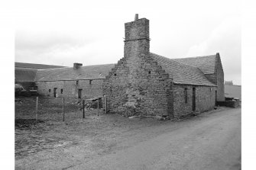
[[173, 114], [173, 83], [149, 55], [149, 21], [125, 24], [125, 56], [103, 82], [107, 110], [118, 114]]

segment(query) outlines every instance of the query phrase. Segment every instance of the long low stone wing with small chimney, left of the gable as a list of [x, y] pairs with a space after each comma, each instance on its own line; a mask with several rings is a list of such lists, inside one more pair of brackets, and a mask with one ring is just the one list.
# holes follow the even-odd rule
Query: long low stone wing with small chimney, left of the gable
[[114, 64], [38, 70], [35, 78], [40, 95], [53, 98], [102, 97], [102, 82]]

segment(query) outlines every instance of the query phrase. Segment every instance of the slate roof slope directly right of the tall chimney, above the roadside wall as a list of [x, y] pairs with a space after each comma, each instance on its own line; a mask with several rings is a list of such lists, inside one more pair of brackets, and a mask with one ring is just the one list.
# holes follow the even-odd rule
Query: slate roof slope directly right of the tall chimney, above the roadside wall
[[176, 84], [216, 86], [212, 82], [209, 82], [203, 72], [197, 67], [189, 66], [154, 53], [151, 53], [151, 57], [158, 65], [162, 66]]

